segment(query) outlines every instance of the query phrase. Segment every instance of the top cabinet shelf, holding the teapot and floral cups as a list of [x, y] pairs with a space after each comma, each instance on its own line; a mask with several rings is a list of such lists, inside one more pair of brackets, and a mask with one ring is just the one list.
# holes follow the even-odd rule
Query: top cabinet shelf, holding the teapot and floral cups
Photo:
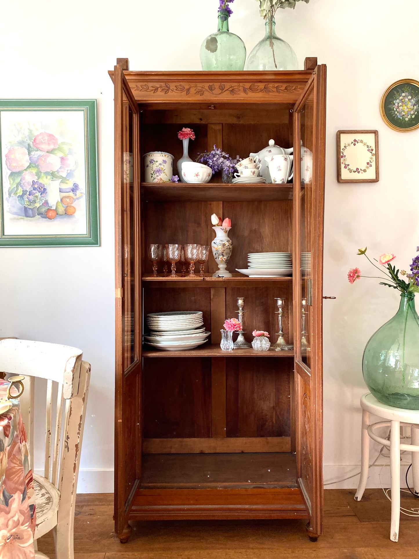
[[207, 182], [185, 183], [141, 183], [141, 197], [145, 201], [218, 201], [225, 202], [270, 202], [292, 200], [292, 183], [289, 184], [227, 184]]

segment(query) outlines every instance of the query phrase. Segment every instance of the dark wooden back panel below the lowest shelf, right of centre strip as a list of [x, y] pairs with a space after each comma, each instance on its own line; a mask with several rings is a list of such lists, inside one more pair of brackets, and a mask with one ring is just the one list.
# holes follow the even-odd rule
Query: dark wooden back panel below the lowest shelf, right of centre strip
[[291, 436], [292, 358], [228, 359], [227, 437]]

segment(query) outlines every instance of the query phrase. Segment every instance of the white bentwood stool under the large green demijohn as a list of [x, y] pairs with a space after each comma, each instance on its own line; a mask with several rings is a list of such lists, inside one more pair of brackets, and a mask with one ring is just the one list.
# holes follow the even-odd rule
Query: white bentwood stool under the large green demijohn
[[[361, 396], [361, 477], [355, 493], [355, 501], [360, 501], [365, 491], [369, 469], [369, 439], [390, 449], [390, 476], [392, 490], [392, 519], [390, 539], [397, 542], [400, 523], [400, 451], [412, 453], [412, 473], [414, 491], [419, 493], [419, 410], [405, 410], [382, 404], [372, 394]], [[387, 421], [370, 423], [370, 414]], [[411, 444], [400, 443], [400, 425], [411, 427]], [[382, 439], [374, 429], [390, 427], [390, 440]]]

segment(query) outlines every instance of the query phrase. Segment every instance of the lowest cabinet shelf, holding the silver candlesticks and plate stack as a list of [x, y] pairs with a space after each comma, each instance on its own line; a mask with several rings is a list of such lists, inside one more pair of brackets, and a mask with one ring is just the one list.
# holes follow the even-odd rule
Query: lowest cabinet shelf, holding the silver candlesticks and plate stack
[[163, 351], [159, 349], [149, 349], [145, 345], [142, 350], [142, 357], [293, 357], [294, 351], [287, 349], [283, 351], [261, 352], [249, 349], [234, 349], [231, 352], [223, 351], [219, 344], [203, 344], [195, 349], [187, 349], [184, 351]]

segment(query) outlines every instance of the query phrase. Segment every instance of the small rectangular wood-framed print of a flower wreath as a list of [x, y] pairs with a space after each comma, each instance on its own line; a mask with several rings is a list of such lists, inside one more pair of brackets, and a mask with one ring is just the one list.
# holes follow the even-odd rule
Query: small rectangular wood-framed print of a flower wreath
[[378, 131], [338, 130], [337, 182], [378, 182]]

